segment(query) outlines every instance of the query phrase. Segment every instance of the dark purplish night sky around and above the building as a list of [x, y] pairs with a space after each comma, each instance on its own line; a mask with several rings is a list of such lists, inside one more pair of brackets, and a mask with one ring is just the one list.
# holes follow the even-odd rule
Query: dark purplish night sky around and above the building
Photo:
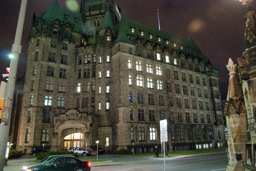
[[[160, 29], [182, 39], [189, 35], [213, 67], [219, 70], [221, 98], [227, 98], [228, 59], [236, 58], [244, 51], [244, 16], [246, 6], [238, 0], [116, 0], [122, 14], [129, 18], [158, 28], [159, 8]], [[18, 78], [25, 73], [27, 64], [28, 35], [33, 13], [37, 16], [48, 9], [53, 0], [28, 0], [22, 36], [22, 51], [19, 58]], [[66, 0], [58, 0], [67, 8]], [[80, 0], [77, 0], [80, 8]], [[0, 0], [0, 74], [6, 74], [10, 66], [8, 54], [14, 43], [21, 0]], [[255, 8], [255, 1], [252, 4]], [[79, 9], [78, 9], [79, 10]], [[78, 11], [79, 12], [79, 11]], [[4, 79], [0, 78], [0, 81]]]

